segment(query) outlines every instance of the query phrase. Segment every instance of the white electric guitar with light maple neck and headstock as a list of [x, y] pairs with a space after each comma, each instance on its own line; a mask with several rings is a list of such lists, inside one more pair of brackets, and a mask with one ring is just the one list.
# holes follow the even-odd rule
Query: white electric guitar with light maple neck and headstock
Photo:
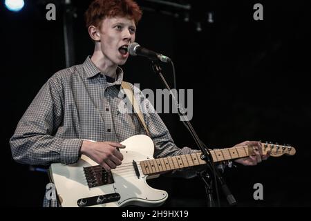
[[[124, 140], [120, 149], [124, 160], [116, 169], [106, 173], [90, 158], [70, 165], [51, 164], [50, 177], [55, 184], [62, 206], [160, 206], [167, 200], [166, 191], [153, 189], [146, 182], [159, 173], [206, 164], [201, 153], [153, 159], [153, 141], [146, 135], [135, 135]], [[254, 146], [236, 146], [210, 151], [214, 162], [254, 155]], [[263, 153], [279, 157], [294, 155], [292, 146], [262, 143]]]

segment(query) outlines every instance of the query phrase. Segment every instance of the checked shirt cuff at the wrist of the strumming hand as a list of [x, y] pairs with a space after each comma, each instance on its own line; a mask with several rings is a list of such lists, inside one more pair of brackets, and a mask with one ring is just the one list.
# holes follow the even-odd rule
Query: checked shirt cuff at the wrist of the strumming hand
[[82, 142], [81, 139], [64, 140], [60, 153], [62, 164], [73, 164], [79, 160]]

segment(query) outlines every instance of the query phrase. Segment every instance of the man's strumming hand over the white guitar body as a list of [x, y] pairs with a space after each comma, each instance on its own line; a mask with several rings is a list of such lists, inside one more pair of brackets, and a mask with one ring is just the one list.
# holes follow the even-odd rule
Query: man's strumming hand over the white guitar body
[[91, 142], [84, 140], [80, 152], [104, 167], [107, 172], [120, 166], [123, 155], [117, 148], [125, 148], [117, 142]]

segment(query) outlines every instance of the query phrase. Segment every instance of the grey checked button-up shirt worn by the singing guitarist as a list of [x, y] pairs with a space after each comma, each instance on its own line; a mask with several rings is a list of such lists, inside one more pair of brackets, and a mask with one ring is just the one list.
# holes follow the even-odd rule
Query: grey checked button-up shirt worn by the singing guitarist
[[[134, 112], [120, 111], [122, 79], [123, 71], [118, 67], [116, 81], [107, 81], [90, 57], [83, 64], [55, 73], [39, 90], [10, 139], [14, 159], [22, 164], [73, 164], [79, 160], [84, 139], [122, 142], [146, 134]], [[194, 153], [188, 147], [178, 148], [159, 115], [142, 110], [153, 108], [149, 101], [138, 88], [134, 93], [140, 96], [144, 121], [155, 144], [154, 157]], [[188, 170], [179, 175], [192, 177], [195, 173]], [[44, 206], [56, 203], [44, 199]]]

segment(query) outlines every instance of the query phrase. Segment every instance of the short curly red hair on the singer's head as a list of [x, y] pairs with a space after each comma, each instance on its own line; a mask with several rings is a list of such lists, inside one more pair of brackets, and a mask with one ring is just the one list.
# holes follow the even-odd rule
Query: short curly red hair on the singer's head
[[86, 28], [100, 27], [105, 17], [129, 17], [137, 25], [142, 17], [142, 11], [133, 0], [95, 0], [88, 6], [85, 14]]

